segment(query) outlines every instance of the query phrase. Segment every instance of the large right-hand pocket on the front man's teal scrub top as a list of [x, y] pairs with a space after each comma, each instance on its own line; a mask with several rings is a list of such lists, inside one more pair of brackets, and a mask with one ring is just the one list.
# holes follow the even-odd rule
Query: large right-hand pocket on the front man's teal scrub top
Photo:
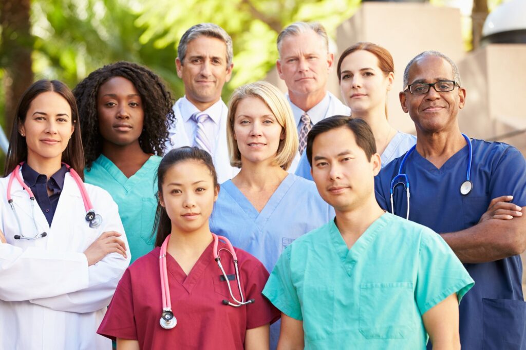
[[403, 339], [416, 324], [413, 283], [360, 284], [360, 333], [367, 339]]

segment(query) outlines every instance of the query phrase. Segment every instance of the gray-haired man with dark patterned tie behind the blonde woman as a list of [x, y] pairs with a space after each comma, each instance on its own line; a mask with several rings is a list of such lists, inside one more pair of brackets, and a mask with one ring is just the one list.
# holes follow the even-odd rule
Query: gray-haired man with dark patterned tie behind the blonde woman
[[[287, 98], [299, 135], [298, 154], [289, 168], [289, 172], [295, 172], [312, 125], [328, 116], [350, 115], [351, 110], [327, 91], [334, 55], [329, 52], [329, 39], [321, 24], [292, 23], [279, 33], [277, 44], [276, 66], [279, 77], [287, 85]], [[310, 173], [307, 159], [305, 163]]]

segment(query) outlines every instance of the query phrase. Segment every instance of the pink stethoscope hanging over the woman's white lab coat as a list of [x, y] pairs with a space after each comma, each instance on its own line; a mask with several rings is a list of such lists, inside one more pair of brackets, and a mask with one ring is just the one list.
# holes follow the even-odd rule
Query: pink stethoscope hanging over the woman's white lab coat
[[[14, 171], [11, 173], [11, 176], [9, 176], [9, 182], [7, 183], [7, 201], [9, 203], [9, 206], [11, 206], [11, 209], [13, 209], [13, 213], [15, 213], [16, 222], [18, 224], [18, 232], [20, 232], [20, 235], [15, 235], [15, 239], [26, 239], [26, 240], [32, 241], [37, 238], [46, 237], [47, 232], [42, 232], [42, 233], [38, 232], [38, 227], [36, 225], [36, 220], [35, 220], [35, 196], [33, 195], [31, 188], [29, 188], [24, 183], [24, 181], [22, 180], [22, 177], [19, 174], [19, 170], [22, 164], [24, 164], [24, 162], [18, 164], [15, 167]], [[102, 216], [95, 214], [95, 209], [93, 209], [92, 202], [89, 200], [89, 196], [86, 191], [86, 187], [84, 187], [84, 183], [82, 182], [82, 179], [80, 178], [80, 176], [78, 176], [75, 169], [73, 169], [72, 167], [70, 167], [69, 165], [65, 163], [62, 163], [62, 164], [66, 166], [69, 173], [71, 174], [71, 176], [77, 183], [78, 189], [80, 190], [80, 194], [82, 195], [82, 200], [84, 202], [84, 208], [86, 209], [86, 221], [89, 222], [89, 227], [91, 228], [99, 227], [100, 224], [102, 224]], [[13, 179], [15, 178], [16, 178], [16, 181], [18, 181], [18, 183], [22, 187], [24, 187], [27, 194], [29, 195], [29, 199], [31, 199], [31, 215], [33, 217], [33, 225], [35, 226], [35, 230], [36, 230], [36, 234], [33, 237], [26, 237], [22, 233], [22, 226], [20, 225], [20, 219], [18, 218], [18, 214], [16, 213], [15, 206], [13, 205], [13, 198], [11, 197], [11, 187], [13, 185]]]

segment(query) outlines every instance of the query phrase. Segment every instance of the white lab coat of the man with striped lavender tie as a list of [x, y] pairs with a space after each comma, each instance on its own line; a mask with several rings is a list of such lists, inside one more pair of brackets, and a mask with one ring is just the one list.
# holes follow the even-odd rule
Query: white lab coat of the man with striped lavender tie
[[[169, 140], [167, 142], [167, 152], [171, 149], [183, 146], [193, 145], [193, 135], [188, 136], [185, 129], [185, 121], [181, 114], [181, 101], [177, 100], [174, 104], [175, 113], [175, 125], [170, 126]], [[217, 181], [221, 184], [231, 179], [234, 175], [239, 172], [238, 168], [230, 166], [230, 157], [228, 156], [228, 145], [227, 145], [227, 118], [228, 108], [224, 102], [222, 102], [221, 108], [221, 119], [219, 121], [219, 134], [215, 140], [215, 151], [214, 151], [214, 166], [217, 172]]]

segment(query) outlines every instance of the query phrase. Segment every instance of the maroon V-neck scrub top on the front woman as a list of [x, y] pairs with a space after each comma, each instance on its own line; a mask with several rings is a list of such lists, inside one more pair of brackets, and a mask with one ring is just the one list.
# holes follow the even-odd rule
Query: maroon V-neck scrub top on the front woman
[[[218, 248], [227, 247], [219, 242]], [[165, 330], [159, 324], [159, 251], [156, 247], [126, 270], [97, 333], [137, 340], [140, 348], [243, 349], [246, 330], [278, 319], [279, 311], [261, 295], [269, 273], [256, 258], [237, 248], [245, 300], [253, 298], [255, 303], [240, 307], [222, 303], [224, 299], [231, 301], [231, 297], [210, 243], [188, 275], [167, 254], [171, 305], [177, 325]], [[231, 256], [221, 251], [220, 257], [231, 279], [230, 275], [235, 275]], [[239, 300], [237, 282], [229, 283]]]

